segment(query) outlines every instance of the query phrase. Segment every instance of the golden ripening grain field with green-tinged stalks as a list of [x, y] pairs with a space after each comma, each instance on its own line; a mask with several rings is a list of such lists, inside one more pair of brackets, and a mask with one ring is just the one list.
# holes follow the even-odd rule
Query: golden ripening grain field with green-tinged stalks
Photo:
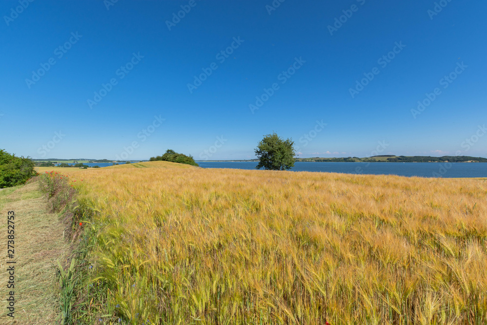
[[106, 324], [487, 323], [486, 179], [57, 170], [95, 211]]

